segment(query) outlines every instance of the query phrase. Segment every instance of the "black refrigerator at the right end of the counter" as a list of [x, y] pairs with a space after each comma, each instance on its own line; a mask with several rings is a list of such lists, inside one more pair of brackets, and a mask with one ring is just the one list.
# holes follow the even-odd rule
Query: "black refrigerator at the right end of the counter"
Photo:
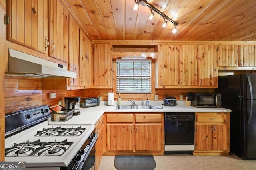
[[256, 159], [256, 74], [219, 77], [221, 105], [231, 109], [230, 152], [242, 159]]

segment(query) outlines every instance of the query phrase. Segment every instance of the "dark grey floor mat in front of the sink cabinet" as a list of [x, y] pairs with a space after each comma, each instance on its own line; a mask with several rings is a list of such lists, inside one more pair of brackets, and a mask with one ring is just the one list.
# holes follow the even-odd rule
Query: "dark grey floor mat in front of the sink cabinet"
[[114, 166], [118, 170], [154, 170], [153, 156], [115, 156]]

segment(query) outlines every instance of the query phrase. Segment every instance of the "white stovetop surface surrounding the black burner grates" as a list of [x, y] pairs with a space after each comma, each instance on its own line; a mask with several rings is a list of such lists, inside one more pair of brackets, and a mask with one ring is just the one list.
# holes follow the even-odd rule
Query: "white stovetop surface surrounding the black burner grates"
[[[81, 125], [82, 128], [86, 128], [86, 130], [80, 136], [34, 136], [37, 131], [41, 131], [42, 128], [51, 128], [58, 127], [59, 125], [48, 125], [48, 122], [45, 121], [40, 123], [30, 129], [26, 129], [20, 133], [17, 133], [11, 137], [5, 139], [5, 148], [10, 148], [14, 145], [14, 143], [19, 144], [26, 142], [33, 142], [36, 140], [40, 140], [40, 142], [54, 142], [55, 139], [57, 142], [64, 141], [67, 139], [67, 142], [73, 142], [73, 144], [66, 150], [66, 152], [60, 156], [6, 156], [5, 161], [15, 161], [15, 162], [26, 162], [26, 167], [62, 167], [67, 166], [72, 160], [73, 156], [76, 155], [78, 150], [82, 147], [84, 142], [88, 139], [92, 131], [95, 129], [94, 125]], [[74, 127], [78, 127], [80, 125], [75, 125]], [[61, 127], [72, 127], [67, 125], [61, 125]]]

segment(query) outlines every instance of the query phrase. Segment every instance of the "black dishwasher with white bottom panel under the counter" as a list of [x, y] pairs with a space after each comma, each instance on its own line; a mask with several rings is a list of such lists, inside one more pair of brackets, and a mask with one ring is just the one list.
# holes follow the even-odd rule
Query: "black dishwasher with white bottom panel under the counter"
[[164, 113], [164, 154], [192, 154], [195, 113]]

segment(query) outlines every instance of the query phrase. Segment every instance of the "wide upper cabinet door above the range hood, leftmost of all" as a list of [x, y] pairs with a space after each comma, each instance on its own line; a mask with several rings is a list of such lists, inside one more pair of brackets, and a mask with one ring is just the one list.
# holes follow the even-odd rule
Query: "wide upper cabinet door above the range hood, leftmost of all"
[[8, 40], [47, 54], [48, 1], [8, 0]]

